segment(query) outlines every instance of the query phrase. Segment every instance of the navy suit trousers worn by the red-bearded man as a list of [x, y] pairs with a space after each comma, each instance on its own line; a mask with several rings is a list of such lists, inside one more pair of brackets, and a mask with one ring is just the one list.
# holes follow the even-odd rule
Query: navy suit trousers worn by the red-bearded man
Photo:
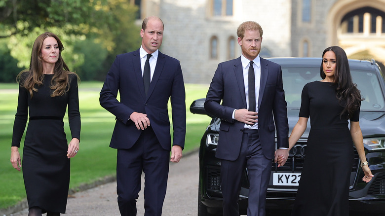
[[265, 216], [271, 160], [262, 152], [258, 130], [244, 129], [238, 158], [234, 161], [221, 160], [224, 216], [239, 216], [238, 197], [245, 168], [250, 182], [247, 216]]

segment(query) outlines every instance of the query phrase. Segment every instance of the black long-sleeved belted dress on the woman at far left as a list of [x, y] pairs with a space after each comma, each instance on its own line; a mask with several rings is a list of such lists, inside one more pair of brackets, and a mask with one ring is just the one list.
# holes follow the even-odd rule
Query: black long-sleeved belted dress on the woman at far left
[[[44, 74], [44, 84], [31, 95], [19, 87], [17, 112], [13, 125], [12, 146], [20, 146], [27, 118], [22, 171], [28, 206], [44, 212], [66, 212], [70, 184], [70, 159], [64, 132], [63, 117], [68, 105], [68, 119], [72, 138], [80, 139], [80, 113], [76, 74], [69, 75], [69, 91], [51, 97], [53, 74]], [[21, 76], [23, 82], [25, 74]]]

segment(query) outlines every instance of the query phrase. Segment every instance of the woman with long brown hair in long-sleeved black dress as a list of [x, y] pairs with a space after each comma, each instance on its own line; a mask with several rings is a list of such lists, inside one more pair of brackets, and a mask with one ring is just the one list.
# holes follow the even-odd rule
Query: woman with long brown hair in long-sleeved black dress
[[[11, 163], [20, 171], [18, 148], [27, 118], [23, 178], [29, 216], [60, 216], [66, 212], [70, 158], [79, 149], [80, 113], [77, 74], [63, 61], [63, 44], [52, 33], [36, 38], [29, 70], [19, 73], [19, 98], [13, 125]], [[68, 106], [72, 140], [67, 144], [63, 117]]]

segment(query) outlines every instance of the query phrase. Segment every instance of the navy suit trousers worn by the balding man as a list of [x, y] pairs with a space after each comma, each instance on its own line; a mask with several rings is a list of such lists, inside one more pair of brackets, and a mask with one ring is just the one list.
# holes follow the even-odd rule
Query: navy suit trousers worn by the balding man
[[170, 152], [159, 144], [152, 127], [129, 149], [117, 149], [117, 203], [121, 216], [136, 216], [136, 200], [145, 174], [145, 216], [161, 216], [167, 189]]

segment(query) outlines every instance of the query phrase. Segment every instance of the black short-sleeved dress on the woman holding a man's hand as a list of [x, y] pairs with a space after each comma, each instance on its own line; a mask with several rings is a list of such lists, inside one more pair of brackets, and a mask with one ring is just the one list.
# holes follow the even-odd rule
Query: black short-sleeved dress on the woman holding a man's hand
[[[300, 117], [310, 117], [305, 164], [292, 216], [348, 216], [353, 141], [343, 107], [336, 98], [338, 84], [314, 81], [302, 91]], [[359, 120], [359, 109], [350, 121]]]

